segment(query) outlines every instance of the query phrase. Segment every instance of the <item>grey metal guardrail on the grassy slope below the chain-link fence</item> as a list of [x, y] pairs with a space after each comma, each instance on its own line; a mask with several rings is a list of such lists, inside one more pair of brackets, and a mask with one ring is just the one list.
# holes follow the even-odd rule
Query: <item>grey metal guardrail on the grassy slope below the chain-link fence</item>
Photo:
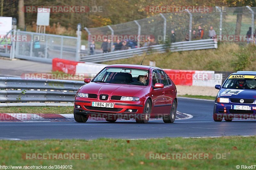
[[182, 41], [182, 42], [172, 43], [171, 47], [161, 44], [161, 45], [154, 45], [149, 47], [114, 51], [110, 53], [81, 56], [80, 61], [100, 63], [105, 61], [130, 58], [130, 57], [133, 57], [134, 55], [143, 55], [144, 53], [146, 54], [152, 53], [152, 52], [164, 53], [166, 52], [166, 50], [171, 50], [172, 52], [176, 52], [176, 51], [188, 51], [188, 50], [211, 49], [211, 48], [218, 48], [217, 42], [214, 42], [213, 39]]

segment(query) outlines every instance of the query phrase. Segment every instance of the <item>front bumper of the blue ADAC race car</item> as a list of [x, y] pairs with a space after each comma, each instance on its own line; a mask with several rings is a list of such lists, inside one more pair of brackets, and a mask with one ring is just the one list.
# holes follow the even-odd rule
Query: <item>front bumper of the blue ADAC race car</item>
[[[250, 106], [251, 110], [235, 110], [234, 106]], [[216, 115], [222, 115], [228, 118], [242, 118], [242, 119], [256, 119], [256, 104], [242, 104], [242, 103], [216, 103], [214, 104], [214, 111]]]

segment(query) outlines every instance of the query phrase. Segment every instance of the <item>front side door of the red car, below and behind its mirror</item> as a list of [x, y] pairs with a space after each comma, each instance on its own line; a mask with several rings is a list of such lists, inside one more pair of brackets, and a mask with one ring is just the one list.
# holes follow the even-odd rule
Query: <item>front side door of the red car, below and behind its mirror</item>
[[156, 83], [161, 83], [160, 80], [160, 76], [158, 71], [155, 69], [152, 71], [152, 101], [153, 101], [153, 105], [152, 105], [152, 114], [153, 115], [162, 115], [165, 114], [165, 91], [164, 88], [154, 88], [154, 85]]

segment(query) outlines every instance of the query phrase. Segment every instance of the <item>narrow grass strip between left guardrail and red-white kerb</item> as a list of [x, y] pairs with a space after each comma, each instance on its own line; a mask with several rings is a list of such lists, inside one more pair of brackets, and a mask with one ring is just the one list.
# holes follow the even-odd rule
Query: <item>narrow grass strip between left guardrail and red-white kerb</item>
[[[73, 114], [73, 107], [55, 106], [22, 106], [22, 107], [0, 107], [0, 113], [51, 113], [51, 114]], [[0, 150], [1, 151], [1, 150]]]

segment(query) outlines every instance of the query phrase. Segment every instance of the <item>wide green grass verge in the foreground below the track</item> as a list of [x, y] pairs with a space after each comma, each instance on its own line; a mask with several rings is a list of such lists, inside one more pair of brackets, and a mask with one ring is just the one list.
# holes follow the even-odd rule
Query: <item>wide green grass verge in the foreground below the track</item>
[[[148, 140], [0, 141], [0, 165], [72, 165], [73, 169], [236, 169], [255, 164], [256, 137], [164, 138]], [[232, 141], [232, 142], [230, 142]], [[24, 160], [24, 153], [102, 153], [102, 159]], [[209, 159], [147, 159], [148, 153], [204, 153]], [[222, 154], [226, 159], [214, 159]], [[224, 157], [223, 157], [224, 158]]]

